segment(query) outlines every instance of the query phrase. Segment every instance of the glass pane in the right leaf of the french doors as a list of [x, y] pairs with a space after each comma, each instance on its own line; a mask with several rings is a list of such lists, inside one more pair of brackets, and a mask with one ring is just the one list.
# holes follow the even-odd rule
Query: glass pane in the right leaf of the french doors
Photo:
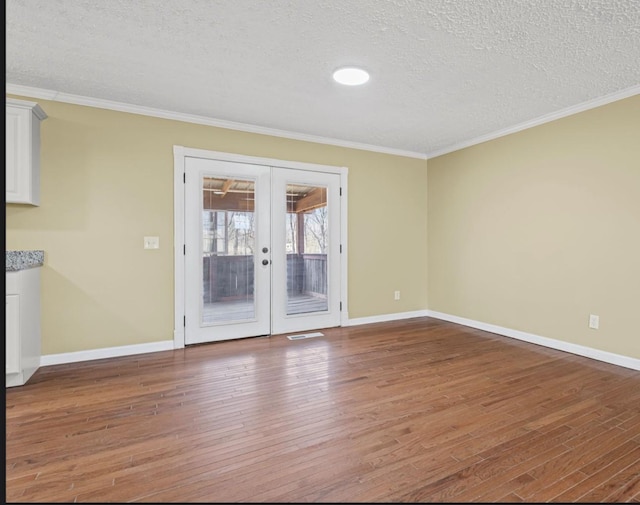
[[327, 188], [287, 184], [286, 206], [286, 313], [326, 311], [329, 242]]

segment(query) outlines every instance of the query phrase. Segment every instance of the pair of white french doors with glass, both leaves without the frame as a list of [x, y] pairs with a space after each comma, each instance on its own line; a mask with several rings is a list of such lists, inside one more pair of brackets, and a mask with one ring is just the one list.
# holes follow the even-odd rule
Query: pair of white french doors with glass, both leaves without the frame
[[340, 324], [340, 175], [185, 157], [185, 344]]

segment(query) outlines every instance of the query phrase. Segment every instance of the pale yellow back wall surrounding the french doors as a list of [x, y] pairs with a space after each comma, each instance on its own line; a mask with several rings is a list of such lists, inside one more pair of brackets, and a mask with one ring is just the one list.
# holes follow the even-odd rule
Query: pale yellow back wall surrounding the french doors
[[14, 98], [48, 115], [41, 205], [6, 206], [6, 248], [45, 251], [44, 355], [173, 339], [174, 145], [348, 167], [350, 318], [426, 308], [425, 160]]

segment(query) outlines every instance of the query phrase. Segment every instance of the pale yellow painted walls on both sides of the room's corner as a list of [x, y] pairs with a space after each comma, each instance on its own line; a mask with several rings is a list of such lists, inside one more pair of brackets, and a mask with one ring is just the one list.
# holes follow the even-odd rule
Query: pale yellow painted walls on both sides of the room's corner
[[[352, 319], [429, 308], [640, 357], [638, 96], [430, 159], [428, 170], [424, 160], [15, 98], [49, 116], [41, 206], [6, 206], [7, 249], [46, 252], [45, 355], [172, 340], [173, 146], [184, 145], [349, 168]], [[145, 251], [145, 235], [160, 236], [160, 250]]]

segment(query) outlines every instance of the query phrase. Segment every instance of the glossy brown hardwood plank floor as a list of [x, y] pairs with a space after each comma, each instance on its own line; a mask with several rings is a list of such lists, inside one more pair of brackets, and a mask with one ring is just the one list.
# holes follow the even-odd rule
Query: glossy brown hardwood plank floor
[[640, 502], [640, 372], [431, 318], [38, 370], [8, 502]]

